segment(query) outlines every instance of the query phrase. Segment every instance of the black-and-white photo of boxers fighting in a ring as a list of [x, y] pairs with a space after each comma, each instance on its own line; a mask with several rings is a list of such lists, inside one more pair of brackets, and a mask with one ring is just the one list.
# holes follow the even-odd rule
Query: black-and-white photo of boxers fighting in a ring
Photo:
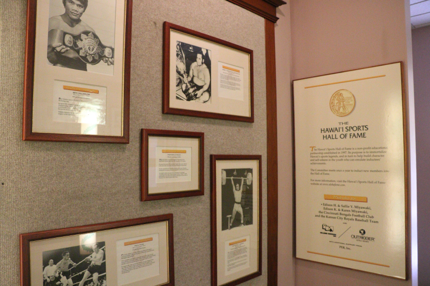
[[[86, 235], [87, 241], [95, 238], [94, 233]], [[106, 286], [105, 251], [104, 242], [44, 251], [43, 285]]]

